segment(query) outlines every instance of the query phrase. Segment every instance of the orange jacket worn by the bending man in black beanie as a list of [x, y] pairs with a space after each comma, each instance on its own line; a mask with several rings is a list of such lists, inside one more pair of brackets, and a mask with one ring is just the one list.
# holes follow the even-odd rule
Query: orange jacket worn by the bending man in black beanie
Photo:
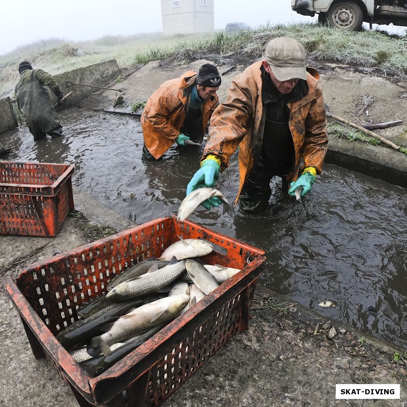
[[[175, 143], [185, 122], [196, 72], [162, 83], [151, 95], [141, 115], [144, 144], [159, 159]], [[202, 127], [206, 131], [219, 98], [209, 98], [202, 105]]]

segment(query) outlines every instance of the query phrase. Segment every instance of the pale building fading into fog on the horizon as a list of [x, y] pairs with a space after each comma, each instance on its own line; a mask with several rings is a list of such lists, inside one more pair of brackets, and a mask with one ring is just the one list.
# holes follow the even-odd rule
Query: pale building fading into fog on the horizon
[[180, 7], [172, 7], [172, 0], [161, 0], [163, 36], [176, 34], [213, 33], [214, 0], [179, 0]]

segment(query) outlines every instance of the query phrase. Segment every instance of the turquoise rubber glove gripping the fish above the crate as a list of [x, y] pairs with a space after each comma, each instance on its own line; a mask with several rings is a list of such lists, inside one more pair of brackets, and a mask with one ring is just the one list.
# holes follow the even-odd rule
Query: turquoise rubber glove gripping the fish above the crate
[[[202, 161], [201, 167], [195, 172], [187, 186], [187, 195], [198, 188], [213, 188], [215, 186], [215, 183], [219, 178], [220, 165], [212, 157], [219, 160], [216, 156], [209, 155], [205, 160]], [[201, 205], [203, 208], [209, 210], [211, 207], [218, 207], [221, 203], [222, 201], [219, 198], [212, 197], [204, 200]]]

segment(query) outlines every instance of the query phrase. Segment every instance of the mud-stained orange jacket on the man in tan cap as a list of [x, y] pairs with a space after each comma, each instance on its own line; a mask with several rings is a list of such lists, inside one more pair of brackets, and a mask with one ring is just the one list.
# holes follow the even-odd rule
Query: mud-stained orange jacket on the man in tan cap
[[[250, 65], [239, 74], [228, 89], [226, 101], [212, 115], [209, 140], [202, 159], [215, 154], [221, 161], [221, 170], [229, 165], [229, 158], [239, 146], [240, 183], [236, 202], [242, 192], [254, 164], [257, 163], [263, 144], [266, 111], [261, 99], [261, 61]], [[293, 136], [295, 166], [288, 174], [288, 181], [295, 181], [303, 167], [315, 167], [322, 172], [322, 164], [328, 149], [327, 117], [318, 83], [319, 75], [307, 68], [308, 94], [296, 102], [289, 102], [289, 129]]]

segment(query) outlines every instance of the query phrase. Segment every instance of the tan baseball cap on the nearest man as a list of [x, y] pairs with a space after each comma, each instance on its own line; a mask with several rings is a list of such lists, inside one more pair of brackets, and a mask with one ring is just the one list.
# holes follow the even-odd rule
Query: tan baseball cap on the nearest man
[[307, 80], [305, 49], [294, 38], [278, 37], [271, 40], [266, 46], [266, 62], [281, 82], [295, 78]]

